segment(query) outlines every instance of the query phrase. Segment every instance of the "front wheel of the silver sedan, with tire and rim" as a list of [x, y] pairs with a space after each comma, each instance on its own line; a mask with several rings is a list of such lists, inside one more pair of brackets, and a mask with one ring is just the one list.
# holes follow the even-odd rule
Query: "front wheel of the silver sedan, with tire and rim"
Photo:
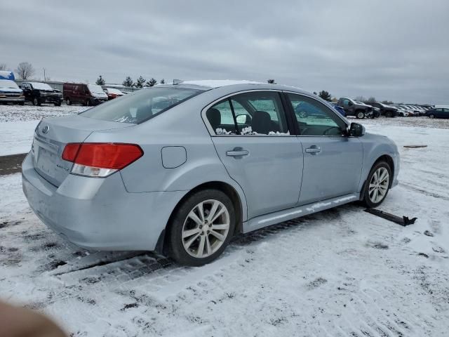
[[385, 200], [391, 187], [391, 168], [386, 161], [378, 161], [370, 170], [363, 192], [363, 204], [372, 209]]

